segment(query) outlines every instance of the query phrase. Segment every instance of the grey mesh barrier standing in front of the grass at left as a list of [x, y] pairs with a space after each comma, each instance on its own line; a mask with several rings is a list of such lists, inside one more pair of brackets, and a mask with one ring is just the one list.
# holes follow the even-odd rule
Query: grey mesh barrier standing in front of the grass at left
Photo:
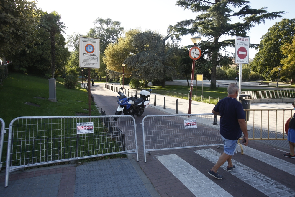
[[[25, 167], [112, 154], [136, 154], [132, 116], [19, 117], [9, 125], [5, 187], [9, 172]], [[117, 116], [118, 117], [118, 116]]]

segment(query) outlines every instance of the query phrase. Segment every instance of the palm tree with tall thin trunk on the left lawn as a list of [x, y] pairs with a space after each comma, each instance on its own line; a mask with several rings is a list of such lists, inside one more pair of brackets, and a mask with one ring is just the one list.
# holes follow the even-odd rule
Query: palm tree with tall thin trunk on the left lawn
[[54, 78], [55, 72], [55, 34], [65, 33], [64, 29], [68, 27], [65, 26], [61, 20], [61, 15], [58, 14], [56, 10], [48, 13], [47, 11], [41, 11], [41, 24], [39, 27], [43, 27], [47, 32], [50, 33], [51, 42], [51, 75]]

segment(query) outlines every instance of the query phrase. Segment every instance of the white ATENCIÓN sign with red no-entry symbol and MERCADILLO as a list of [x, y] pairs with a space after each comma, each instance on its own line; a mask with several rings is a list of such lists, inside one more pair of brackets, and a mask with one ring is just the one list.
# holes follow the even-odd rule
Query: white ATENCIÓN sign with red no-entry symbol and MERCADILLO
[[249, 63], [249, 45], [248, 37], [237, 36], [235, 40], [235, 63], [248, 64]]

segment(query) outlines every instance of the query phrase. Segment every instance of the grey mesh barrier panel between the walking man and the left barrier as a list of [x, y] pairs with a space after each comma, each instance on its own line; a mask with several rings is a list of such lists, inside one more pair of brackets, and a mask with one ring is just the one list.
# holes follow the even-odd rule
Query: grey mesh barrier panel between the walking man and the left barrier
[[214, 114], [149, 115], [142, 126], [145, 162], [150, 151], [223, 144]]

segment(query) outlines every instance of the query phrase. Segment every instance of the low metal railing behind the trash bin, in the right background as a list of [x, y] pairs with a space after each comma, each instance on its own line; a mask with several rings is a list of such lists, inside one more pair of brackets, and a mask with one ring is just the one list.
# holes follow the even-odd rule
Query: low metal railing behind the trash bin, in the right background
[[241, 94], [251, 95], [251, 97], [245, 97], [245, 99], [294, 98], [295, 89], [242, 91]]

